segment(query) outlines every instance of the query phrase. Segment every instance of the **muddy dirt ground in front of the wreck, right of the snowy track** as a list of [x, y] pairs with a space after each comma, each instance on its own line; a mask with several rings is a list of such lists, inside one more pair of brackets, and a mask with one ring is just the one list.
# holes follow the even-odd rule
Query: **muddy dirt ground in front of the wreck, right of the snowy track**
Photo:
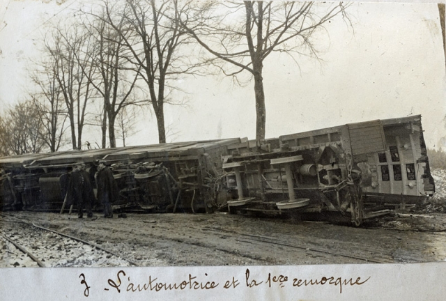
[[[115, 215], [96, 220], [57, 213], [7, 215], [93, 242], [139, 266], [446, 260], [444, 213], [401, 213], [374, 219], [360, 228], [228, 213], [129, 213], [125, 219]], [[1, 218], [2, 224], [8, 223], [6, 217]], [[0, 266], [4, 265], [0, 262]]]

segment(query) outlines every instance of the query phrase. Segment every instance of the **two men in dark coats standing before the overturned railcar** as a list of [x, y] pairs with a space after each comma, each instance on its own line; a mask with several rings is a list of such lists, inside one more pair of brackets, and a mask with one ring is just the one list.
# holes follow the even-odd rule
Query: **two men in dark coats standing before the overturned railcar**
[[[104, 207], [104, 217], [112, 218], [112, 203], [119, 197], [119, 189], [112, 171], [104, 161], [98, 162], [98, 171], [95, 173], [95, 182], [98, 185], [98, 201]], [[76, 163], [73, 166], [67, 190], [68, 204], [76, 204], [77, 217], [84, 217], [84, 208], [87, 217], [97, 219], [93, 215], [92, 207], [95, 203], [95, 194], [91, 184], [90, 174], [85, 170], [85, 164]], [[125, 215], [121, 215], [125, 217]]]

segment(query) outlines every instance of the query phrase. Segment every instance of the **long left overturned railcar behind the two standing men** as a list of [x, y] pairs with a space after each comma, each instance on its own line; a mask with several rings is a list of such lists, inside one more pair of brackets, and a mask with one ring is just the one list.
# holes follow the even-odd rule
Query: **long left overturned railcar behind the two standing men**
[[[3, 210], [54, 210], [63, 206], [72, 166], [82, 162], [95, 187], [99, 160], [111, 166], [119, 187], [114, 209], [155, 212], [215, 210], [213, 183], [222, 155], [240, 139], [179, 142], [0, 158]], [[101, 204], [95, 204], [100, 208]]]

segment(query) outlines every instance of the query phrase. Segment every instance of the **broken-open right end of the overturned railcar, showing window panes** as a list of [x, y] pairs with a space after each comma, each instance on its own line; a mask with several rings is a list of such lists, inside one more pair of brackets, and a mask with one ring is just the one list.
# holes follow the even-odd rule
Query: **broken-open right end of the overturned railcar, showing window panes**
[[[355, 155], [364, 194], [389, 203], [422, 201], [435, 192], [421, 116], [381, 121], [383, 148]], [[401, 198], [401, 196], [405, 196]]]

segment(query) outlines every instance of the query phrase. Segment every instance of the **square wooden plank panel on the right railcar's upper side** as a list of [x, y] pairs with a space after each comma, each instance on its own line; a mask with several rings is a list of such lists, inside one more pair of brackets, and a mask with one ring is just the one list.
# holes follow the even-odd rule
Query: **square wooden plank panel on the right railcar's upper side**
[[353, 155], [385, 151], [385, 137], [380, 121], [351, 123], [347, 127]]

